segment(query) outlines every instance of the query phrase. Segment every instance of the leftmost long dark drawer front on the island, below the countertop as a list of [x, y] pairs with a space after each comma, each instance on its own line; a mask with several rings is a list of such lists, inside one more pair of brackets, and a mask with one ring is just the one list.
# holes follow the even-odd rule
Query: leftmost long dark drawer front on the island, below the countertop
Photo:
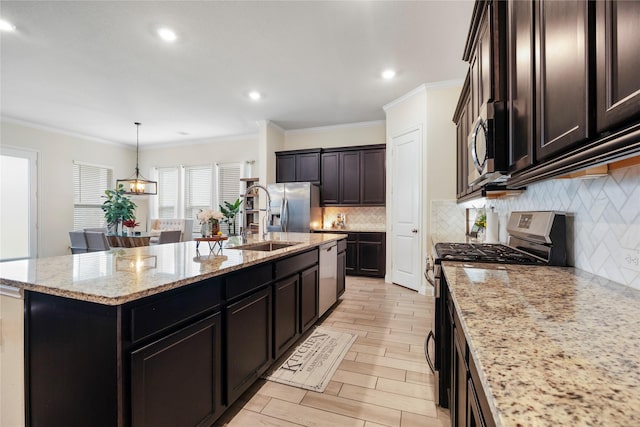
[[214, 310], [222, 302], [219, 279], [209, 279], [135, 303], [128, 311], [136, 343]]

